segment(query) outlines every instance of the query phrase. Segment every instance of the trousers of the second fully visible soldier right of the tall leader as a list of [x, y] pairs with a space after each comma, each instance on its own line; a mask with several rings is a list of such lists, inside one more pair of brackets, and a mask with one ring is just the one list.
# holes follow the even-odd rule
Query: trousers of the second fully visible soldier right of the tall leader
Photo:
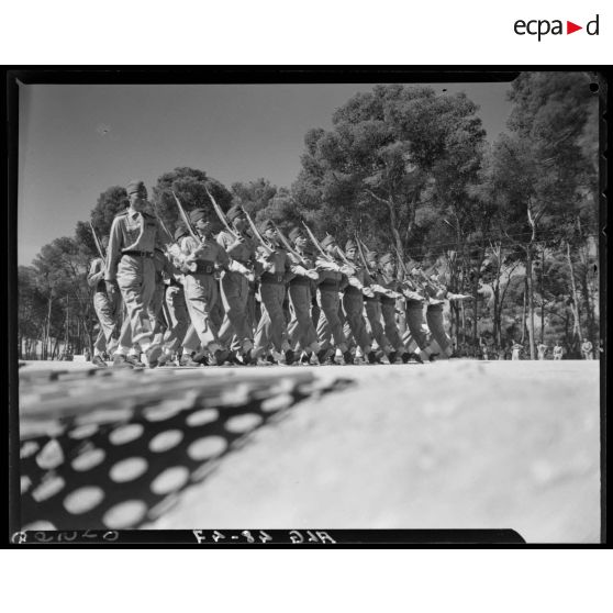
[[226, 271], [221, 280], [221, 296], [225, 311], [220, 328], [221, 343], [227, 346], [236, 335], [239, 346], [250, 344], [253, 328], [249, 325], [248, 314], [249, 282], [239, 272]]

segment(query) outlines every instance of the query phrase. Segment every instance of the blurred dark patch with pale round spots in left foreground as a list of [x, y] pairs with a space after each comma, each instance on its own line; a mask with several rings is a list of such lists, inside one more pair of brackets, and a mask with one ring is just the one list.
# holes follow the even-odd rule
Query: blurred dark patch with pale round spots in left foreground
[[[192, 377], [186, 390], [177, 387], [178, 377], [148, 388], [143, 378], [126, 375], [107, 378], [105, 389], [98, 379], [98, 388], [82, 377], [76, 386], [53, 381], [30, 381], [21, 390], [34, 408], [21, 417], [23, 530], [138, 528], [172, 509], [186, 488], [207, 479], [257, 428], [303, 399], [349, 382]], [[118, 404], [122, 390], [124, 402]]]

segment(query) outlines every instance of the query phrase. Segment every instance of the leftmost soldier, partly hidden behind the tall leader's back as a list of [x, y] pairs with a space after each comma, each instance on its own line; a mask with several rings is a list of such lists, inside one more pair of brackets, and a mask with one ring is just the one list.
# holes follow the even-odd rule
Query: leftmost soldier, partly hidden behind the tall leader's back
[[[109, 237], [102, 237], [102, 246], [107, 248], [109, 245]], [[119, 293], [109, 294], [107, 292], [107, 285], [104, 283], [104, 260], [97, 257], [89, 269], [87, 282], [90, 288], [96, 289], [93, 294], [93, 309], [100, 322], [100, 332], [93, 343], [93, 358], [92, 364], [100, 368], [107, 368], [107, 363], [103, 359], [103, 354], [112, 355], [116, 348], [118, 342], [113, 339], [113, 334], [119, 327], [119, 314], [121, 309], [121, 298]]]

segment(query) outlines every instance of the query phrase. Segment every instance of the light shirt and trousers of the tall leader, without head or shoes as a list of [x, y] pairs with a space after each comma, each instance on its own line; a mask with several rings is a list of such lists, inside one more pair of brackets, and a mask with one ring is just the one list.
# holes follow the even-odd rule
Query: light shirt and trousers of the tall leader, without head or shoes
[[104, 278], [116, 280], [130, 320], [132, 343], [140, 343], [143, 349], [149, 345], [153, 333], [148, 308], [155, 290], [153, 254], [156, 247], [163, 247], [160, 236], [156, 218], [129, 209], [113, 220], [107, 249]]

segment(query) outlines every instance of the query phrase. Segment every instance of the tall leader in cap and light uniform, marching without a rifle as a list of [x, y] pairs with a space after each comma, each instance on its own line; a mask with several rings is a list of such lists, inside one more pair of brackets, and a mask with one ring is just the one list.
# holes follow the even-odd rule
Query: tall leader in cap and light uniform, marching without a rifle
[[[157, 219], [145, 212], [147, 190], [143, 181], [127, 185], [130, 207], [113, 220], [104, 281], [109, 296], [121, 291], [127, 310], [132, 343], [145, 352], [148, 366], [157, 366], [161, 346], [153, 343], [149, 303], [155, 290], [154, 249], [161, 248], [161, 230]], [[120, 345], [113, 358], [118, 367], [130, 366], [130, 347]]]

